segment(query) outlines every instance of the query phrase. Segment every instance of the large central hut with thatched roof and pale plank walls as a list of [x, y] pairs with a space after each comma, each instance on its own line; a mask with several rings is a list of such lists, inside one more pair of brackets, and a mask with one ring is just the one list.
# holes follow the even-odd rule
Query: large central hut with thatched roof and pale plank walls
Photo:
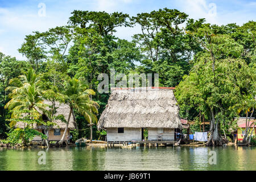
[[181, 129], [174, 88], [112, 88], [108, 105], [98, 121], [109, 141], [141, 141], [143, 129], [148, 140], [175, 140]]

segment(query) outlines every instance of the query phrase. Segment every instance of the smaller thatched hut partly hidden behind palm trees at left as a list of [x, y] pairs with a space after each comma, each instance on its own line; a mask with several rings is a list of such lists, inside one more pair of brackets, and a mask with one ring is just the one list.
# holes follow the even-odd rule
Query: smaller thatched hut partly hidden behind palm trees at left
[[[51, 106], [51, 102], [44, 100], [44, 104], [47, 104], [49, 106]], [[59, 102], [55, 102], [55, 106], [56, 106], [56, 115], [61, 115], [63, 114], [65, 117], [65, 120], [68, 121], [68, 115], [69, 115], [69, 106], [67, 104], [60, 104]], [[42, 114], [42, 119], [44, 121], [48, 121], [47, 116], [40, 110], [38, 110], [40, 114]], [[64, 133], [65, 127], [67, 126], [66, 123], [60, 121], [59, 119], [56, 119], [55, 121], [53, 121], [56, 125], [52, 126], [49, 130], [49, 135], [48, 135], [48, 139], [49, 141], [59, 141]], [[19, 128], [24, 128], [25, 127], [25, 123], [23, 122], [18, 122], [16, 123], [15, 127], [19, 127]], [[33, 126], [34, 129], [40, 131], [43, 134], [46, 134], [46, 126], [43, 125], [36, 125], [34, 124]], [[65, 136], [65, 140], [68, 140], [69, 137], [69, 131], [76, 129], [76, 122], [75, 119], [73, 117], [73, 115], [70, 118], [69, 121], [69, 125], [68, 125], [68, 132]], [[42, 140], [41, 137], [34, 137], [33, 140]]]

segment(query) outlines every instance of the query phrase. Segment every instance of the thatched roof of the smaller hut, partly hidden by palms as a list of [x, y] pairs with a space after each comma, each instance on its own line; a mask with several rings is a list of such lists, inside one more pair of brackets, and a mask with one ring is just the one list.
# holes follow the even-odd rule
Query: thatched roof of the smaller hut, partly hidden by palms
[[[44, 104], [47, 104], [49, 106], [52, 105], [52, 102], [44, 100], [43, 101]], [[60, 102], [55, 101], [55, 106], [57, 107], [56, 109], [56, 114], [55, 115], [63, 115], [65, 120], [68, 121], [68, 115], [69, 115], [69, 106], [67, 104], [61, 104]], [[49, 109], [49, 108], [46, 108]], [[39, 111], [40, 114], [43, 114], [43, 111], [40, 111], [39, 109], [37, 109]], [[64, 123], [63, 121], [61, 121], [60, 119], [56, 119], [55, 121], [53, 121], [56, 125], [52, 126], [51, 129], [65, 129], [65, 127], [67, 126], [66, 123]], [[24, 123], [23, 122], [18, 122], [16, 123], [15, 127], [19, 127], [19, 128], [24, 128]], [[68, 128], [73, 130], [76, 129], [77, 125], [74, 119], [73, 114], [71, 115], [70, 121], [69, 121], [69, 125]], [[36, 123], [34, 123], [33, 125], [34, 129], [45, 129], [46, 127], [44, 127], [43, 125], [36, 125]]]

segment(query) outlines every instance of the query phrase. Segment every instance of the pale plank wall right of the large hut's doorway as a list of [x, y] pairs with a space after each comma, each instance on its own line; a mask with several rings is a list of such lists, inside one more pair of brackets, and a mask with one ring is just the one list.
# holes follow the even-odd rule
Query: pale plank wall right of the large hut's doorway
[[148, 128], [149, 141], [158, 140], [158, 135], [162, 135], [162, 141], [172, 141], [174, 140], [174, 129], [163, 129], [163, 133], [160, 134], [157, 128]]

